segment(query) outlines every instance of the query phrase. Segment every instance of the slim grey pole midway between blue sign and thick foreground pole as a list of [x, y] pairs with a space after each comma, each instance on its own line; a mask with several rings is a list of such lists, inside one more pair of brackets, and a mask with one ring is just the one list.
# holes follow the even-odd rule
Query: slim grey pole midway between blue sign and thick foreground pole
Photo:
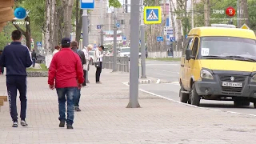
[[114, 8], [114, 50], [113, 50], [113, 72], [117, 71], [117, 36], [118, 36], [118, 27], [117, 27], [117, 14], [116, 9]]

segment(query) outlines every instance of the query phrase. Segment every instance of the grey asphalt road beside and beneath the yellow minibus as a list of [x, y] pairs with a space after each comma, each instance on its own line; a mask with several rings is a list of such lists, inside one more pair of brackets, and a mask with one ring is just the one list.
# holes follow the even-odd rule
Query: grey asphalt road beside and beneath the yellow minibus
[[[166, 80], [170, 83], [144, 84], [140, 85], [139, 88], [150, 93], [161, 95], [162, 97], [179, 101], [178, 92], [180, 86], [178, 84], [178, 71], [179, 62], [148, 61], [146, 62], [146, 76]], [[253, 103], [250, 103], [250, 106], [234, 107], [233, 101], [201, 100], [200, 106], [256, 115], [256, 109], [254, 109]]]

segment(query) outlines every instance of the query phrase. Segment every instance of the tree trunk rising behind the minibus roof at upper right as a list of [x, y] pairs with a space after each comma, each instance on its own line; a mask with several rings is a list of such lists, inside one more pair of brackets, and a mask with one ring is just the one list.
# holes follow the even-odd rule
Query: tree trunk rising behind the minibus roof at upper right
[[239, 9], [242, 10], [242, 14], [239, 14], [240, 19], [242, 19], [242, 20], [239, 20], [240, 26], [242, 26], [243, 24], [246, 24], [247, 26], [249, 26], [250, 22], [249, 22], [247, 0], [240, 0], [240, 8]]

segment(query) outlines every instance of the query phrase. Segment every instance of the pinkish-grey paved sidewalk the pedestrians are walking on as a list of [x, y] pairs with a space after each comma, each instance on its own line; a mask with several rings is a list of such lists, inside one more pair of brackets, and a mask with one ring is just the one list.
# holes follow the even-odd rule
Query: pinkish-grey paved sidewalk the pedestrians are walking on
[[[6, 103], [0, 112], [0, 144], [255, 143], [255, 117], [184, 106], [142, 92], [142, 108], [127, 109], [129, 87], [122, 82], [129, 74], [102, 70], [102, 85], [94, 83], [94, 69], [89, 74], [74, 130], [58, 127], [58, 98], [47, 78], [28, 78], [29, 126], [12, 128]], [[0, 94], [6, 94], [5, 85], [0, 76]]]

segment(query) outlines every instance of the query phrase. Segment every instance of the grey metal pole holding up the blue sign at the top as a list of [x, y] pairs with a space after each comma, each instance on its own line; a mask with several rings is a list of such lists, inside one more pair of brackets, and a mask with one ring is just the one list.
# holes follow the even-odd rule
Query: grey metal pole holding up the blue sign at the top
[[[87, 10], [82, 10], [82, 13], [82, 46], [84, 47], [89, 45], [88, 14]], [[88, 73], [86, 75], [88, 75]], [[88, 77], [86, 77], [86, 83], [90, 83]]]

